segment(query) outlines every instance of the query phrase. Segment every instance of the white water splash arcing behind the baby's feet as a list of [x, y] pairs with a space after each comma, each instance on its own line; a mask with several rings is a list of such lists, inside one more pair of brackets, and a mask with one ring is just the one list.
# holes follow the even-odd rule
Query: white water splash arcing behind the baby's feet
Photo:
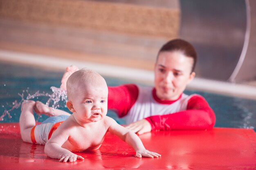
[[[22, 94], [18, 93], [18, 95], [21, 97], [21, 100], [20, 102], [18, 102], [17, 100], [15, 100], [14, 102], [12, 102], [12, 106], [11, 106], [11, 109], [7, 110], [4, 106], [2, 106], [4, 108], [4, 113], [2, 113], [1, 117], [0, 117], [0, 121], [3, 121], [4, 120], [4, 117], [6, 115], [8, 115], [8, 118], [11, 119], [11, 114], [10, 112], [14, 109], [18, 109], [22, 102], [25, 101], [25, 100], [30, 100], [30, 99], [34, 99], [36, 97], [41, 97], [41, 96], [46, 96], [46, 97], [49, 97], [49, 99], [47, 100], [46, 102], [46, 105], [49, 106], [49, 104], [51, 103], [51, 101], [53, 101], [53, 104], [52, 104], [52, 108], [56, 109], [56, 108], [59, 108], [61, 107], [58, 103], [60, 101], [64, 101], [64, 102], [67, 102], [67, 93], [66, 91], [64, 91], [63, 89], [61, 88], [57, 88], [57, 87], [50, 87], [50, 89], [52, 90], [52, 94], [49, 94], [49, 93], [45, 93], [45, 92], [42, 92], [40, 93], [39, 91], [36, 91], [36, 93], [34, 93], [33, 95], [29, 94], [29, 88], [27, 88], [27, 90], [23, 90], [22, 91]], [[25, 93], [27, 93], [27, 97], [24, 97], [25, 96]]]

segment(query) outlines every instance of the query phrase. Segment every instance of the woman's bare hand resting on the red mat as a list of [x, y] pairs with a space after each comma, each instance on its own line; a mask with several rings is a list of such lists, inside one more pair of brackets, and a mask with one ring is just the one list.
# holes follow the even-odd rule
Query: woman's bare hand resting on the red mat
[[135, 121], [127, 125], [126, 128], [139, 135], [150, 132], [152, 130], [150, 123], [146, 119]]

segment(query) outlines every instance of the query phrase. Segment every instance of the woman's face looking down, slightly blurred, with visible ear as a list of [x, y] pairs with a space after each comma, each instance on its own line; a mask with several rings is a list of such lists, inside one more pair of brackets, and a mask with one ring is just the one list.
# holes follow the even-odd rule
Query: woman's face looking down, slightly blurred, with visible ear
[[175, 100], [183, 93], [186, 85], [195, 77], [191, 73], [193, 58], [181, 51], [159, 53], [155, 64], [156, 95], [161, 100]]

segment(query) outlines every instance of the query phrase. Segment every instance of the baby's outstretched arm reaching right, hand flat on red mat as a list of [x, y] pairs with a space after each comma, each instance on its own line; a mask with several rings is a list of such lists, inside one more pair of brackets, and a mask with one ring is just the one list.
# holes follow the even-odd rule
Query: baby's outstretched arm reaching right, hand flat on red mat
[[120, 139], [125, 141], [128, 145], [130, 145], [135, 151], [136, 151], [136, 156], [141, 158], [141, 157], [161, 157], [160, 154], [156, 152], [150, 152], [145, 149], [144, 145], [142, 144], [141, 140], [139, 137], [128, 130], [127, 128], [117, 124], [117, 122], [110, 118], [106, 117], [106, 120], [108, 121], [108, 124], [110, 125], [108, 128], [108, 131], [112, 134], [117, 135]]

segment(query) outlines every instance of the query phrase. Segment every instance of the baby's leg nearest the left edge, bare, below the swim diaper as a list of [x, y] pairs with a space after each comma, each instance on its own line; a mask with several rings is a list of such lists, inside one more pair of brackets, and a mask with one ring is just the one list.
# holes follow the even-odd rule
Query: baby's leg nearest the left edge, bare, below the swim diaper
[[32, 100], [25, 100], [21, 106], [20, 134], [22, 140], [29, 143], [32, 143], [31, 129], [36, 125], [36, 120], [33, 112], [35, 105], [36, 102]]

